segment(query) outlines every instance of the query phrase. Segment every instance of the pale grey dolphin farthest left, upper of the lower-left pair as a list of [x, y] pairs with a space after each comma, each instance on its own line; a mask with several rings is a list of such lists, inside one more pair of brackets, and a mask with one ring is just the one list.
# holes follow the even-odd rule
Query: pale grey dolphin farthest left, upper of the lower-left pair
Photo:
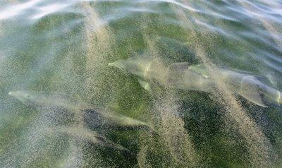
[[52, 110], [56, 112], [64, 112], [69, 114], [81, 114], [83, 120], [90, 127], [112, 126], [112, 128], [121, 126], [123, 128], [149, 127], [143, 121], [132, 119], [115, 112], [105, 112], [101, 109], [94, 109], [91, 105], [79, 102], [66, 95], [47, 94], [40, 92], [32, 92], [18, 90], [9, 92], [9, 95], [16, 97], [18, 100], [30, 107], [37, 109]]

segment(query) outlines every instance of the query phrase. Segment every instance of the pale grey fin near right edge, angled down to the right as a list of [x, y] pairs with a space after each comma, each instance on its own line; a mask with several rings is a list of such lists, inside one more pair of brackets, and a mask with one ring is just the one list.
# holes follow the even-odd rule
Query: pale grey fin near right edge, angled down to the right
[[266, 104], [262, 102], [262, 96], [259, 93], [259, 85], [256, 83], [257, 79], [254, 76], [244, 76], [241, 80], [240, 95], [250, 102], [262, 107], [267, 107]]

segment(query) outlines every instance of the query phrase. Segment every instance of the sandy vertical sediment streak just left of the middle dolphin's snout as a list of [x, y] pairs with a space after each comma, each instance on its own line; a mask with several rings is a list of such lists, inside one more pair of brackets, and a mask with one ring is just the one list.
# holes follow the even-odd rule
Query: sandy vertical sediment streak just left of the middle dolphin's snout
[[[107, 102], [109, 95], [106, 94], [104, 85], [107, 80], [106, 69], [109, 59], [113, 56], [111, 44], [114, 44], [113, 35], [106, 23], [99, 18], [99, 14], [95, 11], [93, 6], [88, 3], [83, 4], [85, 10], [85, 42], [87, 46], [86, 54], [86, 95], [88, 101], [102, 100]], [[112, 60], [111, 60], [112, 61]], [[109, 81], [108, 81], [109, 83]]]

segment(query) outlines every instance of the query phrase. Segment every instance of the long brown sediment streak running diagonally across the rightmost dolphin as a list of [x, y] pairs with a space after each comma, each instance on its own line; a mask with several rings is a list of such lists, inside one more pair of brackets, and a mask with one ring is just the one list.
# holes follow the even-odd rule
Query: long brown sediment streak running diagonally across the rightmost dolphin
[[[188, 6], [190, 5], [184, 1], [183, 3]], [[178, 13], [178, 18], [183, 20], [185, 25], [194, 24], [188, 19], [188, 16], [186, 16], [185, 12], [181, 9], [176, 8], [176, 13]], [[197, 13], [189, 13], [189, 16], [190, 18], [197, 19]], [[200, 59], [200, 61], [202, 61], [202, 64], [207, 67], [208, 71], [212, 71], [216, 65], [207, 57], [205, 47], [202, 45], [205, 43], [204, 35], [203, 33], [200, 33], [197, 37], [194, 29], [195, 28], [191, 28], [190, 32], [186, 32], [186, 34], [191, 34], [188, 41], [193, 41], [192, 47], [195, 49], [196, 56]], [[199, 39], [202, 41], [200, 42]], [[212, 74], [212, 78], [216, 80], [216, 91], [214, 91], [214, 95], [218, 100], [220, 100], [220, 102], [222, 100], [221, 103], [223, 104], [223, 107], [225, 107], [226, 126], [229, 128], [232, 126], [231, 129], [238, 131], [240, 136], [243, 137], [244, 142], [247, 143], [252, 166], [262, 167], [269, 165], [272, 150], [271, 143], [268, 138], [266, 138], [255, 121], [248, 116], [247, 112], [245, 112], [240, 103], [238, 103], [236, 97], [233, 95], [233, 92], [228, 90], [225, 83], [220, 80], [220, 77]]]

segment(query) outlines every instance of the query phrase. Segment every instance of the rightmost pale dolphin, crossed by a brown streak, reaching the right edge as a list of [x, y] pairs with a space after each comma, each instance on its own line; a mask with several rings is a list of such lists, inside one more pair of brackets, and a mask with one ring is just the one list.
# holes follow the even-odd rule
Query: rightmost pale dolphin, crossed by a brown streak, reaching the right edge
[[[261, 107], [280, 106], [281, 92], [263, 82], [263, 76], [255, 76], [247, 72], [231, 71], [224, 68], [212, 68], [210, 74], [202, 64], [189, 66], [189, 69], [199, 73], [204, 78], [221, 80], [232, 92]], [[213, 76], [213, 77], [212, 77]], [[273, 83], [269, 81], [269, 83]]]

